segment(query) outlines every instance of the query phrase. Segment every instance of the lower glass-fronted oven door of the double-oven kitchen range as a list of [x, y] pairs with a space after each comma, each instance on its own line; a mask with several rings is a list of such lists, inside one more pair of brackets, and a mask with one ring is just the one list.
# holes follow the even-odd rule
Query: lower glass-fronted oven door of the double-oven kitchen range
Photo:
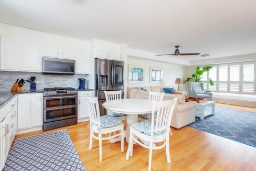
[[44, 123], [65, 120], [73, 117], [77, 117], [76, 105], [44, 110]]

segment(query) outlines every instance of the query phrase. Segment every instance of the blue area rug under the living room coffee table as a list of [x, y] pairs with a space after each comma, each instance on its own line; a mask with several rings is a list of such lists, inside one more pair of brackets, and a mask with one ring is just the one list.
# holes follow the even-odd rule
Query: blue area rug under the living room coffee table
[[216, 106], [214, 115], [188, 126], [256, 147], [256, 112]]

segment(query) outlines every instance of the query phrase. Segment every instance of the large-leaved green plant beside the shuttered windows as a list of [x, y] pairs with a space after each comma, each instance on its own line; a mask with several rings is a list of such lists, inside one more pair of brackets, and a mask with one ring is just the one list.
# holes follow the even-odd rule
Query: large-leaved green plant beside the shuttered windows
[[[202, 74], [204, 74], [204, 72], [208, 72], [209, 70], [211, 70], [212, 67], [203, 67], [202, 69], [200, 69], [199, 67], [196, 68], [196, 72], [192, 74], [191, 77], [188, 77], [185, 81], [184, 84], [186, 82], [192, 81], [192, 82], [201, 82], [202, 79]], [[211, 78], [209, 78], [209, 83], [211, 86], [214, 86], [214, 82], [212, 82]]]

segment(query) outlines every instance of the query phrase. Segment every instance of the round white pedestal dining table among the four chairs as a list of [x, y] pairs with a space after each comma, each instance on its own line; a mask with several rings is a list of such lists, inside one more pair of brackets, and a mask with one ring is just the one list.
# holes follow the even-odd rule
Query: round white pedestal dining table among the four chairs
[[126, 142], [129, 142], [130, 126], [138, 122], [138, 114], [151, 113], [153, 101], [147, 99], [118, 99], [103, 103], [106, 110], [126, 114]]

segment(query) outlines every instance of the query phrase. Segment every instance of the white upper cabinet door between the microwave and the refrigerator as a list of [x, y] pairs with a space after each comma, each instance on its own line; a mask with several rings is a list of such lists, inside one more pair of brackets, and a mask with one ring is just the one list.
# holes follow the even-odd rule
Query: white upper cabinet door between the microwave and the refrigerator
[[76, 73], [90, 73], [90, 52], [84, 49], [75, 50]]

